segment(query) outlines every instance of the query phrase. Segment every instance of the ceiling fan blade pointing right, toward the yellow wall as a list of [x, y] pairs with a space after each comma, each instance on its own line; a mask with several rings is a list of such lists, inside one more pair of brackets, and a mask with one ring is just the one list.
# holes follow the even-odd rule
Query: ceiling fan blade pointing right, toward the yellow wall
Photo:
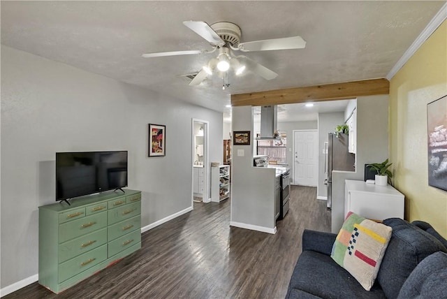
[[249, 41], [237, 45], [237, 49], [242, 52], [302, 49], [305, 47], [306, 41], [301, 36], [273, 38], [264, 41]]

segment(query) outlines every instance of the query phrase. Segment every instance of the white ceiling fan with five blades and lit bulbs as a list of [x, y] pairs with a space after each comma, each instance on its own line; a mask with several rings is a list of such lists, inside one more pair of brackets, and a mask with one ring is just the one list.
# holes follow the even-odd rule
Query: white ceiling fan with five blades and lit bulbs
[[[230, 69], [235, 71], [236, 75], [240, 75], [245, 68], [260, 75], [265, 80], [272, 80], [277, 77], [277, 73], [258, 64], [256, 61], [249, 59], [244, 55], [235, 55], [233, 51], [254, 52], [254, 51], [270, 51], [270, 50], [288, 50], [302, 49], [306, 46], [306, 41], [300, 36], [292, 36], [288, 38], [273, 38], [263, 41], [251, 41], [240, 43], [242, 31], [239, 26], [230, 22], [217, 22], [211, 26], [202, 21], [185, 21], [183, 24], [196, 32], [202, 38], [209, 42], [213, 50], [186, 50], [173, 52], [154, 52], [142, 54], [142, 57], [164, 57], [188, 54], [209, 54], [218, 51], [216, 58], [210, 59], [208, 63], [198, 72], [196, 77], [189, 85], [199, 85], [207, 75], [212, 75], [215, 68], [221, 72], [221, 76], [228, 73]], [[229, 82], [228, 82], [229, 85]], [[227, 85], [227, 86], [228, 86]], [[223, 89], [225, 89], [225, 84]]]

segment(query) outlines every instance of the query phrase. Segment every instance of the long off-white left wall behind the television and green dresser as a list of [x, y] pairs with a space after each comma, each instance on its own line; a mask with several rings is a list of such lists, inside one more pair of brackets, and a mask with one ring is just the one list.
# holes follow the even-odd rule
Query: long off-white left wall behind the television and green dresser
[[[129, 151], [142, 226], [191, 209], [191, 119], [222, 113], [1, 46], [1, 288], [38, 273], [38, 206], [54, 203], [55, 152]], [[166, 125], [166, 156], [147, 157], [147, 124]]]

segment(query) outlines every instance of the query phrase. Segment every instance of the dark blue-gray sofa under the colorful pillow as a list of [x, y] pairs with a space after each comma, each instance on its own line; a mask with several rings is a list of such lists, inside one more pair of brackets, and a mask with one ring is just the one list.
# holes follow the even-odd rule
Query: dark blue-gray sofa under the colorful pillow
[[383, 224], [393, 233], [370, 291], [330, 257], [336, 234], [305, 230], [286, 298], [447, 298], [447, 240], [423, 221]]

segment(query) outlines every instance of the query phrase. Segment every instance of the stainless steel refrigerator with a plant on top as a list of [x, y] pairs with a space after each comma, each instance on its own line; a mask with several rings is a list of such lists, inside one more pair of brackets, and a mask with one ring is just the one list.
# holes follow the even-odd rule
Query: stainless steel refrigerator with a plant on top
[[334, 133], [329, 133], [328, 149], [325, 151], [327, 153], [325, 184], [328, 185], [328, 208], [332, 207], [332, 170], [356, 171], [356, 155], [349, 152], [348, 145], [348, 135], [340, 133], [337, 137]]

